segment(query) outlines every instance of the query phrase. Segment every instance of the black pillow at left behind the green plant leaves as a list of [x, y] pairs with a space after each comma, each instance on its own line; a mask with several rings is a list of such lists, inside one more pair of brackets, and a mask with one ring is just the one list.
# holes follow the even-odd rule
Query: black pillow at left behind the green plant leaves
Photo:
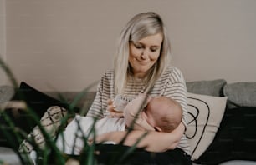
[[[12, 100], [25, 101], [28, 107], [30, 107], [33, 112], [38, 115], [39, 119], [43, 117], [44, 112], [46, 112], [49, 107], [59, 106], [69, 109], [69, 103], [61, 102], [57, 99], [54, 99], [53, 97], [49, 97], [43, 92], [40, 92], [37, 89], [29, 86], [26, 82], [20, 83], [20, 86]], [[73, 110], [74, 112], [79, 112], [78, 107], [74, 107]], [[10, 110], [7, 110], [6, 114], [13, 121], [15, 127], [21, 128], [25, 133], [30, 133], [30, 131], [37, 125], [37, 122], [33, 120], [33, 117], [27, 112], [20, 111], [19, 117], [14, 117], [12, 111]], [[6, 127], [8, 123], [3, 119], [3, 116], [0, 116], [0, 124], [0, 146], [17, 148], [18, 141], [16, 138], [13, 138], [13, 131], [8, 130], [10, 128]], [[4, 133], [8, 134], [4, 134], [3, 130], [5, 130]], [[7, 136], [12, 139], [7, 139]]]

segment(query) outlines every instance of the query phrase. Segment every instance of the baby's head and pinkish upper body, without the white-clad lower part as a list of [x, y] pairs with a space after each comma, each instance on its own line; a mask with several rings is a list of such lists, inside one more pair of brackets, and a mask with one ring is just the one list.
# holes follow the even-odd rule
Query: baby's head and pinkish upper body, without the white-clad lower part
[[182, 122], [182, 107], [168, 97], [141, 94], [126, 105], [124, 118], [128, 128], [170, 133]]

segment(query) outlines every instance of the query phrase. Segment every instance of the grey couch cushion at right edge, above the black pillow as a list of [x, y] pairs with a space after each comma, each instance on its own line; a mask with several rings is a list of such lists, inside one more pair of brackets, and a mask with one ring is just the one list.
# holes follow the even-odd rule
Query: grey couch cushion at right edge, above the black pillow
[[228, 108], [256, 107], [256, 82], [234, 82], [224, 86]]

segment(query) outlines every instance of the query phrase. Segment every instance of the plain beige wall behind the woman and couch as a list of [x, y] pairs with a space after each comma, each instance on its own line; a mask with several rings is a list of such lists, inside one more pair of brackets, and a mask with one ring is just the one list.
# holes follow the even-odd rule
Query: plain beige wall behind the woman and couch
[[187, 81], [256, 82], [255, 8], [255, 0], [8, 0], [7, 62], [40, 90], [80, 91], [112, 67], [125, 23], [155, 11]]

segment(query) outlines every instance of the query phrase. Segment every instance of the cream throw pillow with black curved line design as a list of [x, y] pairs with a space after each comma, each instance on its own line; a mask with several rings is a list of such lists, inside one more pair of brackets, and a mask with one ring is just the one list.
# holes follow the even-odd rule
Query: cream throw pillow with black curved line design
[[188, 117], [186, 135], [192, 160], [199, 158], [212, 143], [223, 118], [227, 97], [187, 93]]

